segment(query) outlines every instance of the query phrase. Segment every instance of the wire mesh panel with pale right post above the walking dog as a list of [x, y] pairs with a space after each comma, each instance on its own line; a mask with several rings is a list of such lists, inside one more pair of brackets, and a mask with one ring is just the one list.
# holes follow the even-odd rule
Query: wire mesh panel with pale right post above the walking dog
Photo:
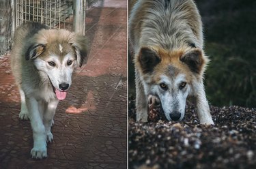
[[41, 22], [53, 29], [68, 29], [85, 35], [86, 0], [14, 0], [15, 27], [23, 22]]

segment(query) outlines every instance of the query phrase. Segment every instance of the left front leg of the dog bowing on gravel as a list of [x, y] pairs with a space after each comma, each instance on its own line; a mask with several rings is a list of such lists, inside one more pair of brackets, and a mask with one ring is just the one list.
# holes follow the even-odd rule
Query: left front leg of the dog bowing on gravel
[[139, 78], [139, 72], [136, 72], [136, 108], [137, 108], [137, 121], [147, 121], [147, 98], [141, 79]]

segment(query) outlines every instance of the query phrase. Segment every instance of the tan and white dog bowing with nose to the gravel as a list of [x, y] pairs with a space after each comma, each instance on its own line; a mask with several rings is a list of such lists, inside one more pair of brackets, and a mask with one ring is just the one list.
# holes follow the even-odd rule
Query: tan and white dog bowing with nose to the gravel
[[[183, 119], [187, 97], [201, 124], [214, 124], [205, 97], [202, 22], [193, 0], [130, 1], [129, 44], [134, 55], [137, 121], [149, 104], [162, 106], [169, 121]], [[152, 106], [152, 105], [151, 105]]]

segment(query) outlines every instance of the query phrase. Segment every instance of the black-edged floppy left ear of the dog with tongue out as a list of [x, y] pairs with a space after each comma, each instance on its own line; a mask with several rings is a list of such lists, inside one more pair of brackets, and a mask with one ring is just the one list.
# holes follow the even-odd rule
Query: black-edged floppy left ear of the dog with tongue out
[[29, 49], [25, 54], [26, 60], [28, 61], [29, 59], [35, 59], [36, 57], [38, 57], [44, 52], [44, 49], [45, 49], [44, 44], [33, 44], [29, 46]]

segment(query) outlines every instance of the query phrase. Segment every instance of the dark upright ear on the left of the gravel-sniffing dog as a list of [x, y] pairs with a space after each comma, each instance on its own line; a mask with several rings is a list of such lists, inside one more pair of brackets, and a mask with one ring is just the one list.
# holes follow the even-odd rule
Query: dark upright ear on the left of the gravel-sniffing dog
[[144, 73], [152, 72], [154, 67], [161, 61], [161, 58], [158, 56], [157, 52], [148, 47], [141, 48], [138, 58]]

